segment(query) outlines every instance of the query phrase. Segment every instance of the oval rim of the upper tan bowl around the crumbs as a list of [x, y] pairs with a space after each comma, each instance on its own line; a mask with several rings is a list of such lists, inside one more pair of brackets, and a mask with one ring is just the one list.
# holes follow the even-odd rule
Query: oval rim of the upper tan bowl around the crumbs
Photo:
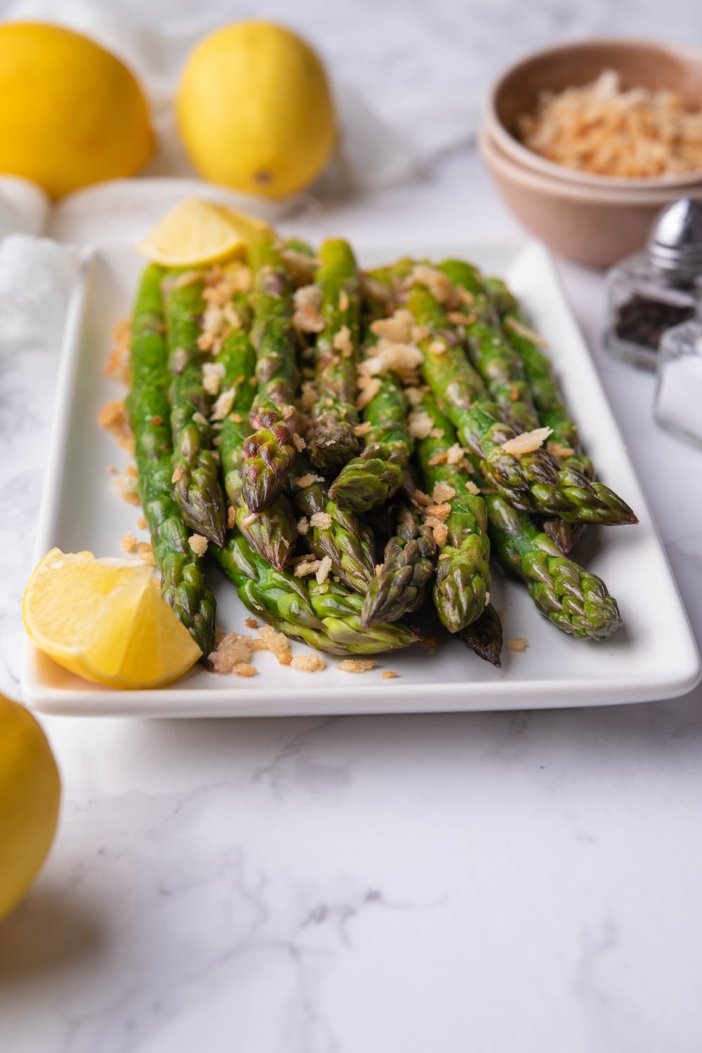
[[[667, 53], [686, 62], [695, 62], [702, 68], [702, 48], [674, 41], [646, 40], [640, 37], [587, 37], [584, 40], [565, 41], [561, 44], [528, 52], [526, 55], [522, 55], [516, 62], [510, 63], [493, 80], [483, 98], [481, 123], [487, 125], [492, 136], [497, 139], [502, 151], [526, 167], [539, 171], [543, 175], [594, 187], [611, 187], [613, 190], [616, 187], [627, 187], [629, 190], [640, 188], [647, 191], [673, 190], [675, 187], [697, 185], [702, 182], [702, 168], [678, 176], [637, 176], [630, 178], [626, 176], [600, 176], [596, 173], [581, 172], [579, 168], [570, 168], [565, 164], [549, 161], [547, 158], [535, 153], [535, 151], [529, 150], [528, 146], [524, 146], [519, 139], [515, 138], [507, 131], [498, 116], [496, 105], [498, 93], [505, 80], [519, 73], [522, 66], [550, 58], [554, 55], [581, 51], [583, 47], [627, 47], [630, 51], [650, 52], [659, 55]], [[604, 65], [603, 68], [605, 68]]]

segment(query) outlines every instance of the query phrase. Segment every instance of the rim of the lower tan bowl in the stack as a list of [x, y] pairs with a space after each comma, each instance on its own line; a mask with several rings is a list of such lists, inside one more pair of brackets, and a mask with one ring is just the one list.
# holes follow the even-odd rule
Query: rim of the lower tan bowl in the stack
[[694, 193], [681, 195], [676, 186], [593, 186], [589, 183], [567, 182], [554, 178], [550, 173], [544, 174], [526, 167], [506, 154], [501, 143], [497, 142], [490, 131], [484, 125], [478, 131], [478, 151], [489, 166], [501, 170], [504, 175], [531, 190], [540, 191], [553, 197], [566, 198], [570, 201], [589, 201], [593, 204], [623, 205], [629, 207], [646, 207], [659, 205], [661, 208], [677, 201], [680, 197], [690, 196], [702, 200], [702, 174], [700, 180], [688, 186]]

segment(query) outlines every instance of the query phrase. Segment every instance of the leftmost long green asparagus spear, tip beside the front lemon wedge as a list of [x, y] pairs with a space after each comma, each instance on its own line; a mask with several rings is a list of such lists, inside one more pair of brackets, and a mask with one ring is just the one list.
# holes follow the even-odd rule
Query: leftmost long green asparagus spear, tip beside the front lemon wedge
[[135, 437], [139, 494], [148, 524], [161, 592], [203, 655], [213, 650], [215, 597], [205, 584], [201, 558], [188, 545], [188, 531], [174, 497], [173, 444], [161, 282], [154, 264], [141, 279], [132, 321], [132, 386], [127, 408]]

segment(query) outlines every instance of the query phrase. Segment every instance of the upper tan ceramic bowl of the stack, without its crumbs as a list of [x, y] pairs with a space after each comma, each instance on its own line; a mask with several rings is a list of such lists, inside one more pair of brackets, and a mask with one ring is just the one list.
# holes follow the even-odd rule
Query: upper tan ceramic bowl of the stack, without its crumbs
[[667, 88], [682, 96], [690, 108], [702, 110], [702, 51], [645, 40], [584, 40], [537, 52], [509, 66], [487, 94], [483, 128], [502, 153], [518, 164], [582, 186], [651, 191], [702, 184], [702, 172], [650, 179], [578, 172], [547, 161], [519, 142], [519, 118], [534, 111], [541, 92], [587, 84], [603, 69], [619, 73], [625, 90]]

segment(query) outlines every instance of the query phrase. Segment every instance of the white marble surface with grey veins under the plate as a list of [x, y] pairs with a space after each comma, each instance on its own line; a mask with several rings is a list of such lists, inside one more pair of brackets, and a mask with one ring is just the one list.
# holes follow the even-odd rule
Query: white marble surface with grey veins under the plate
[[[578, 33], [702, 42], [694, 0], [265, 11], [379, 98], [415, 77], [467, 88]], [[394, 47], [402, 20], [425, 49]], [[518, 233], [469, 147], [297, 225], [376, 243], [408, 225]], [[649, 376], [603, 359], [601, 277], [562, 273], [699, 639], [702, 454], [654, 426]], [[0, 365], [0, 688], [14, 695], [55, 365]], [[0, 925], [0, 1048], [697, 1053], [701, 701], [698, 689], [529, 714], [45, 720], [63, 811], [46, 868]]]

